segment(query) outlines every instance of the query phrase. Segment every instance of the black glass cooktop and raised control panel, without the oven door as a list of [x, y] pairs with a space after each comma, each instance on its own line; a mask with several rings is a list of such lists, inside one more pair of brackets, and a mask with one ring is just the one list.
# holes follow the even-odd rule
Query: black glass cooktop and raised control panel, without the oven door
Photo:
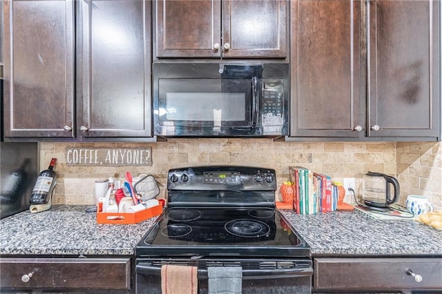
[[310, 257], [276, 210], [275, 170], [200, 166], [169, 170], [168, 208], [136, 255]]

